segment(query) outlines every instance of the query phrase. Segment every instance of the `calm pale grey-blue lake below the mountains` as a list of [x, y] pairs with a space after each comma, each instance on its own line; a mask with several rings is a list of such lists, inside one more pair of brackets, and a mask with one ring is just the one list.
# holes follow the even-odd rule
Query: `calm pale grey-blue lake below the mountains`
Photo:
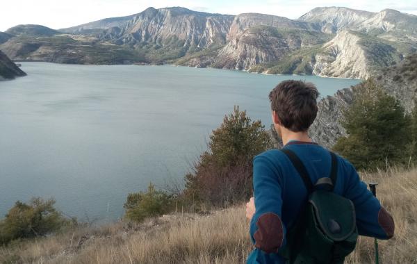
[[66, 215], [113, 221], [129, 192], [181, 183], [235, 105], [269, 128], [280, 81], [322, 97], [359, 83], [174, 66], [22, 63], [0, 82], [0, 217], [15, 201], [54, 197]]

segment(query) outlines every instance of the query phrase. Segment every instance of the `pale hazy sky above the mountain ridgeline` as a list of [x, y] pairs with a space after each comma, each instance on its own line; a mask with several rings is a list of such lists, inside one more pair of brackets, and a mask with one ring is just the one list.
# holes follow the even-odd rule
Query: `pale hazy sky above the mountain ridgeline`
[[208, 13], [265, 13], [296, 19], [318, 6], [378, 12], [392, 8], [417, 15], [417, 0], [0, 0], [0, 31], [17, 24], [65, 28], [106, 17], [140, 13], [149, 6], [182, 6]]

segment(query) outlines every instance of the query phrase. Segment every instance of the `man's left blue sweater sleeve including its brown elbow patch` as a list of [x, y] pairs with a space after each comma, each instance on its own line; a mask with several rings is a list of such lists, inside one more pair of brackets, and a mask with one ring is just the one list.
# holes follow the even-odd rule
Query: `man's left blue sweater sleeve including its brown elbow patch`
[[286, 243], [279, 171], [267, 157], [256, 156], [253, 181], [256, 211], [250, 223], [252, 242], [256, 249], [276, 253]]

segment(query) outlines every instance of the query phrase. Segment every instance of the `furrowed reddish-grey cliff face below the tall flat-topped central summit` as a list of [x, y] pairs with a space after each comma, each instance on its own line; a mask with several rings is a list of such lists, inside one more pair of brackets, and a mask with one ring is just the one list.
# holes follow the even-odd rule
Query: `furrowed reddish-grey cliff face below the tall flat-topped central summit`
[[120, 39], [129, 44], [152, 42], [167, 45], [174, 41], [183, 46], [203, 48], [224, 44], [233, 18], [231, 15], [194, 13], [185, 8], [147, 10], [124, 27]]

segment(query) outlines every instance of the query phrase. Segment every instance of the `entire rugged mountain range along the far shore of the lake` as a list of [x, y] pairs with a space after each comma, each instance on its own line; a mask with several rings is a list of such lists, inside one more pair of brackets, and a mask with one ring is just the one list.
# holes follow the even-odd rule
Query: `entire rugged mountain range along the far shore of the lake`
[[0, 33], [0, 50], [13, 60], [169, 63], [366, 79], [417, 51], [417, 16], [328, 7], [288, 19], [147, 8], [58, 30], [15, 26]]

